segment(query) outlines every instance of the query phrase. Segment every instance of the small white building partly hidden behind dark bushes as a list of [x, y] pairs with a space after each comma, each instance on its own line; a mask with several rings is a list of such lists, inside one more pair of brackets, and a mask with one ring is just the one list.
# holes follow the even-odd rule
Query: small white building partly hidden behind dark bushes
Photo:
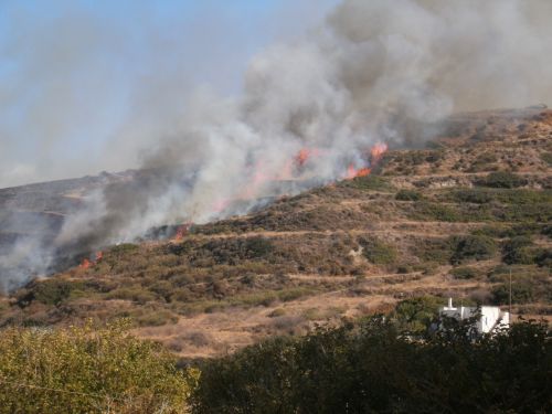
[[439, 314], [457, 320], [477, 316], [476, 329], [479, 333], [488, 333], [510, 326], [510, 314], [500, 310], [498, 306], [454, 307], [453, 298], [448, 298], [448, 306], [439, 308]]

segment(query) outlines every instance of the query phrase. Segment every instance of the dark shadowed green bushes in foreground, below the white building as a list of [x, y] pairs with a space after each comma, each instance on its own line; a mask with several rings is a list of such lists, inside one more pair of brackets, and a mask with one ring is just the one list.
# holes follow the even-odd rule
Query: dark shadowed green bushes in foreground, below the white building
[[[193, 412], [550, 412], [551, 342], [522, 322], [470, 340], [467, 327], [417, 340], [392, 319], [276, 338], [208, 361]], [[508, 390], [505, 392], [505, 390]]]

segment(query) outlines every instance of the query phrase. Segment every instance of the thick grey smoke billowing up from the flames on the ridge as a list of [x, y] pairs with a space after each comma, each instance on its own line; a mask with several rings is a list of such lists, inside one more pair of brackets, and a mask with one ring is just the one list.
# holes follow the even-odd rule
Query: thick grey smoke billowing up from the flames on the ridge
[[375, 144], [403, 144], [411, 121], [551, 102], [551, 15], [548, 0], [344, 0], [308, 35], [258, 53], [240, 96], [188, 96], [145, 145], [151, 176], [89, 195], [55, 247], [244, 213], [275, 182], [342, 179], [369, 167]]

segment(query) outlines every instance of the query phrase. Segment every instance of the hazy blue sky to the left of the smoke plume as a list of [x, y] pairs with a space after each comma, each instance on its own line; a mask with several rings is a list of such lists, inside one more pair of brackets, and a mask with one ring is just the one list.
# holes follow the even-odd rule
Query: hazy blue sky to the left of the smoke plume
[[198, 89], [337, 0], [0, 0], [0, 188], [139, 166]]

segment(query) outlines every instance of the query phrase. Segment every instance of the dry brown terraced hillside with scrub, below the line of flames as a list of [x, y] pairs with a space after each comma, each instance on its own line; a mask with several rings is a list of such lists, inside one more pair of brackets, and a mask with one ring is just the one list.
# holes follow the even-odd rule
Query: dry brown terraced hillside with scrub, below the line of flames
[[0, 298], [0, 325], [131, 317], [187, 358], [448, 296], [552, 315], [552, 110], [461, 114], [371, 176], [180, 238], [121, 244]]

